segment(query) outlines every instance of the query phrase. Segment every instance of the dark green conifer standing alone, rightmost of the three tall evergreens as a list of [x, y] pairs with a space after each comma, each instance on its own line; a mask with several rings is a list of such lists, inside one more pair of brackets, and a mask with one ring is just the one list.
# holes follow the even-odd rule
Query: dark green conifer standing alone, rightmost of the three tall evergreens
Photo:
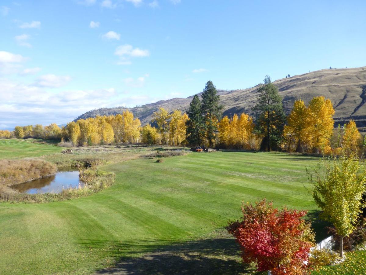
[[264, 85], [258, 88], [258, 103], [254, 107], [256, 130], [263, 136], [261, 150], [270, 151], [279, 148], [286, 117], [283, 111], [282, 98], [277, 87], [266, 76]]

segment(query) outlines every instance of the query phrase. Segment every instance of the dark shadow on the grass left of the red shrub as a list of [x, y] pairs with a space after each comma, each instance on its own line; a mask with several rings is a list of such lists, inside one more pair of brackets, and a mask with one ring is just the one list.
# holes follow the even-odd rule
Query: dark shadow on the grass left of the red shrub
[[[84, 240], [86, 241], [86, 240]], [[156, 241], [159, 243], [160, 241]], [[138, 241], [144, 243], [143, 241]], [[131, 243], [128, 245], [130, 246]], [[133, 244], [132, 244], [133, 245]], [[133, 248], [133, 247], [130, 247]], [[128, 250], [121, 243], [116, 250]], [[97, 274], [253, 274], [244, 265], [240, 248], [233, 238], [212, 238], [160, 246], [142, 257], [121, 257], [115, 267], [98, 270]], [[126, 250], [125, 250], [126, 252]], [[129, 251], [127, 254], [133, 253]], [[126, 255], [126, 253], [123, 253]]]

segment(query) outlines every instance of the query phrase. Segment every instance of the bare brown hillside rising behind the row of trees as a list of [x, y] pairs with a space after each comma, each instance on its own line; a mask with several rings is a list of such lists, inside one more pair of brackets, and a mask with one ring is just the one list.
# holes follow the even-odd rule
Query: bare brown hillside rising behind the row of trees
[[[285, 113], [290, 113], [294, 101], [303, 99], [308, 103], [314, 96], [330, 98], [336, 110], [336, 124], [354, 119], [358, 127], [366, 127], [366, 67], [351, 69], [324, 69], [311, 73], [282, 78], [273, 82], [283, 97]], [[258, 84], [259, 85], [259, 84]], [[234, 113], [249, 113], [253, 115], [253, 107], [257, 103], [258, 85], [244, 90], [218, 90], [221, 104], [224, 105], [224, 115]], [[134, 108], [102, 108], [82, 114], [80, 118], [95, 117], [96, 115], [120, 114], [124, 110], [131, 111], [142, 124], [147, 124], [154, 111], [164, 107], [168, 111], [180, 109], [186, 111], [193, 96], [188, 98], [172, 98], [160, 100]]]

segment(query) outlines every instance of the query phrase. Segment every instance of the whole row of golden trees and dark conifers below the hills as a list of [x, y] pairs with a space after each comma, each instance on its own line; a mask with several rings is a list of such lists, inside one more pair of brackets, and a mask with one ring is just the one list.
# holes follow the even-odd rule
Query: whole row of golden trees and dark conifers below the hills
[[[62, 129], [56, 124], [16, 126], [14, 135], [40, 139], [63, 137], [73, 146], [142, 142], [323, 154], [339, 154], [342, 148], [365, 149], [366, 137], [362, 139], [354, 121], [334, 130], [335, 111], [329, 99], [315, 97], [307, 106], [303, 100], [296, 100], [286, 117], [282, 98], [270, 77], [266, 76], [258, 92], [254, 117], [245, 113], [222, 117], [220, 96], [212, 81], [208, 81], [201, 99], [195, 95], [187, 113], [180, 110], [169, 113], [160, 108], [153, 114], [153, 123], [143, 127], [138, 118], [125, 111], [70, 122]], [[2, 137], [10, 136], [7, 132]]]

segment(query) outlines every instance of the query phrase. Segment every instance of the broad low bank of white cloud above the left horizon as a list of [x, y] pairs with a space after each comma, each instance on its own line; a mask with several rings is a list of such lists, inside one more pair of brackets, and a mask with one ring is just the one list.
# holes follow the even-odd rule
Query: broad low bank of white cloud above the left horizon
[[[141, 83], [135, 79], [133, 82]], [[128, 81], [127, 81], [128, 82]], [[107, 87], [93, 90], [53, 90], [17, 81], [0, 81], [0, 127], [51, 123], [63, 124], [86, 111], [113, 106], [135, 106], [159, 98], [117, 91]], [[6, 125], [3, 126], [1, 124]]]

